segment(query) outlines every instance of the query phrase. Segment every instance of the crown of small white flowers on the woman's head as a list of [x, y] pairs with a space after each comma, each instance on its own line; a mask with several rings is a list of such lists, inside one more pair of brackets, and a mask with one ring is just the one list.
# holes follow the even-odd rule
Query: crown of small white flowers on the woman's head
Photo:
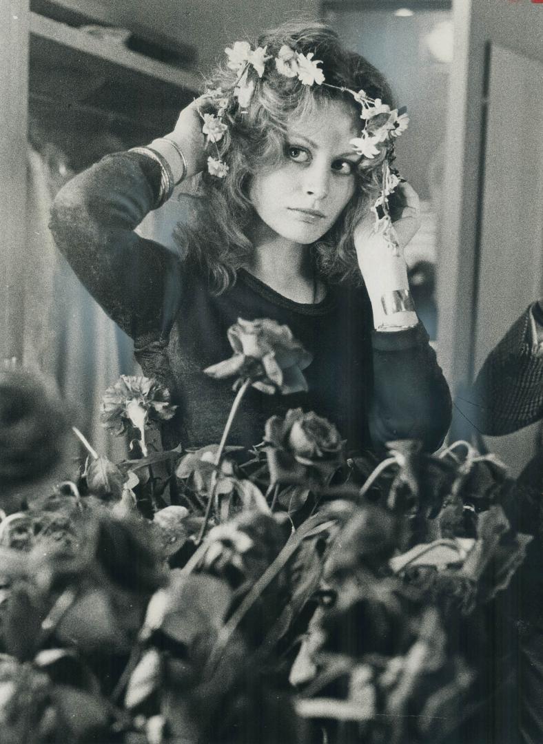
[[[235, 42], [225, 52], [228, 56], [228, 68], [237, 73], [237, 80], [229, 90], [222, 88], [208, 89], [205, 97], [210, 98], [216, 106], [216, 114], [202, 114], [202, 132], [207, 137], [207, 144], [213, 144], [215, 156], [208, 157], [208, 172], [211, 176], [222, 179], [228, 173], [228, 164], [222, 159], [217, 143], [222, 139], [228, 126], [224, 122], [225, 112], [232, 100], [237, 101], [240, 109], [247, 109], [257, 79], [262, 79], [266, 72], [266, 65], [272, 60], [272, 55], [266, 54], [266, 47], [252, 49], [248, 42]], [[391, 229], [392, 222], [388, 208], [388, 197], [403, 179], [397, 170], [391, 167], [394, 159], [394, 138], [399, 137], [408, 127], [409, 117], [406, 109], [392, 109], [380, 98], [371, 98], [363, 90], [353, 91], [344, 86], [334, 86], [325, 82], [324, 72], [318, 65], [322, 60], [314, 60], [314, 53], [302, 54], [286, 44], [283, 45], [277, 57], [273, 58], [275, 69], [284, 77], [297, 77], [304, 86], [325, 86], [350, 94], [356, 103], [362, 107], [362, 131], [359, 137], [350, 140], [353, 151], [363, 158], [373, 160], [379, 155], [379, 144], [386, 143], [387, 156], [382, 164], [382, 189], [371, 210], [375, 214], [375, 231], [382, 229], [385, 239], [397, 251], [396, 235]], [[253, 72], [254, 71], [254, 72]], [[256, 73], [256, 76], [255, 74]], [[251, 74], [251, 77], [249, 75]]]

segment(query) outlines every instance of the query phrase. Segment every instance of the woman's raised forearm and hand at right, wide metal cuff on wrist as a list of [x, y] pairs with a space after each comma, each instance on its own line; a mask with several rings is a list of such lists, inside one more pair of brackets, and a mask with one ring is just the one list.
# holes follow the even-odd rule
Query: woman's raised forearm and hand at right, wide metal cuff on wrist
[[419, 199], [406, 183], [398, 190], [396, 205], [391, 204], [398, 249], [393, 251], [382, 235], [373, 231], [373, 216], [364, 218], [355, 234], [376, 327], [370, 432], [376, 446], [396, 439], [418, 439], [426, 450], [434, 451], [449, 429], [452, 402], [449, 385], [409, 294], [403, 249], [420, 225]]

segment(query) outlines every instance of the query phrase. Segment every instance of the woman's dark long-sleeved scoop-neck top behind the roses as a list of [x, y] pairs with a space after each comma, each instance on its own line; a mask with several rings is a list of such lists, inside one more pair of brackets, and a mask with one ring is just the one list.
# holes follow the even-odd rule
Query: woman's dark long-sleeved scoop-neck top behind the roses
[[211, 294], [201, 272], [134, 232], [159, 183], [158, 164], [147, 155], [108, 155], [62, 188], [51, 230], [91, 295], [134, 339], [144, 373], [164, 381], [179, 404], [164, 424], [165, 446], [219, 441], [232, 381], [202, 370], [231, 356], [226, 331], [237, 318], [272, 318], [314, 355], [304, 371], [309, 392], [270, 396], [250, 388], [229, 443], [260, 442], [270, 416], [301, 406], [334, 422], [350, 449], [407, 437], [437, 449], [451, 403], [422, 325], [377, 333], [363, 288], [330, 287], [320, 303], [300, 304], [244, 270], [222, 295]]

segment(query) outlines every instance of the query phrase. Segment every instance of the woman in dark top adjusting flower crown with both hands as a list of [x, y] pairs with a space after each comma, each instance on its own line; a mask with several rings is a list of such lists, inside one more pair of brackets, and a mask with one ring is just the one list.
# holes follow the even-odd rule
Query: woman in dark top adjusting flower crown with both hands
[[[351, 449], [405, 437], [436, 449], [450, 398], [398, 250], [417, 228], [407, 184], [396, 189], [396, 233], [387, 217], [398, 183], [392, 135], [405, 116], [391, 116], [382, 75], [322, 25], [285, 25], [226, 52], [173, 132], [109, 155], [62, 189], [58, 246], [132, 336], [144, 373], [179, 404], [165, 446], [219, 440], [231, 381], [202, 370], [231, 356], [226, 331], [237, 318], [272, 318], [312, 353], [309, 392], [251, 389], [231, 443], [260, 442], [269, 416], [301, 406], [334, 422]], [[173, 254], [133, 230], [182, 179], [197, 188]]]

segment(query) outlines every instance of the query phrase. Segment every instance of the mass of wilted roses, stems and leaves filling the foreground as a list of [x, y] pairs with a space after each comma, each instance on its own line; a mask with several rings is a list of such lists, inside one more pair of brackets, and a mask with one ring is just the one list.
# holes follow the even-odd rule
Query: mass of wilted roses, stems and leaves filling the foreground
[[[232, 336], [219, 373], [242, 371], [236, 405], [259, 380], [280, 391], [284, 370], [303, 382], [299, 344], [272, 330], [279, 361]], [[301, 409], [251, 451], [225, 435], [158, 452], [167, 391], [124, 378], [103, 417], [132, 459], [89, 447], [77, 475], [13, 511], [28, 463], [56, 457], [65, 430], [40, 385], [18, 371], [0, 385], [4, 744], [436, 743], [476, 707], [485, 613], [531, 539], [492, 455], [403, 441], [379, 464], [346, 458]], [[59, 422], [54, 441], [21, 434], [42, 431], [38, 414]]]

